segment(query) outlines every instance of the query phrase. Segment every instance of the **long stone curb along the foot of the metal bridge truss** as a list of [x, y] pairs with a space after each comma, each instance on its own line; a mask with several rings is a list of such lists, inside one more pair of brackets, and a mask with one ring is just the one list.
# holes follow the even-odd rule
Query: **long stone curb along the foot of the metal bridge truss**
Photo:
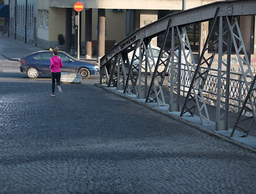
[[95, 83], [94, 86], [98, 86], [98, 87], [100, 87], [102, 89], [105, 89], [106, 91], [112, 92], [113, 94], [122, 96], [123, 98], [128, 99], [128, 100], [130, 100], [130, 101], [132, 101], [134, 103], [139, 103], [140, 105], [142, 105], [142, 106], [144, 106], [146, 108], [150, 108], [151, 110], [153, 110], [155, 112], [159, 112], [160, 114], [162, 114], [164, 116], [168, 116], [169, 118], [172, 118], [173, 120], [177, 120], [177, 121], [180, 121], [181, 123], [187, 124], [190, 127], [193, 127], [194, 129], [198, 129], [199, 131], [201, 131], [203, 133], [207, 133], [208, 135], [210, 135], [212, 137], [218, 138], [218, 139], [220, 139], [222, 141], [228, 141], [229, 143], [232, 143], [234, 146], [238, 146], [238, 147], [241, 147], [241, 148], [243, 148], [245, 150], [249, 150], [251, 152], [256, 153], [256, 148], [254, 148], [252, 146], [248, 146], [248, 145], [246, 145], [246, 144], [244, 144], [244, 143], [242, 143], [240, 141], [231, 139], [230, 137], [225, 137], [224, 135], [221, 135], [219, 133], [214, 133], [214, 132], [210, 131], [209, 129], [204, 128], [202, 125], [194, 124], [194, 123], [192, 123], [192, 122], [190, 122], [188, 120], [182, 119], [179, 116], [171, 115], [171, 114], [169, 114], [169, 112], [165, 112], [164, 110], [161, 110], [160, 108], [152, 107], [152, 106], [148, 105], [147, 103], [140, 102], [137, 99], [133, 99], [130, 96], [122, 94], [122, 93], [119, 93], [116, 90], [109, 90], [109, 88], [107, 86], [102, 86], [102, 85], [100, 85], [100, 83]]

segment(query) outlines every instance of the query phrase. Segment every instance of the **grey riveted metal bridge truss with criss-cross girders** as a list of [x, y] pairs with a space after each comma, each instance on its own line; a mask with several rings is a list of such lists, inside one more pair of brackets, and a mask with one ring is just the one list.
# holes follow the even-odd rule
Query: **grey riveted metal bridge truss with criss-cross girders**
[[[137, 95], [137, 98], [145, 99], [146, 103], [168, 107], [170, 112], [181, 112], [181, 116], [186, 113], [191, 116], [197, 114], [202, 124], [210, 122], [206, 103], [206, 91], [210, 90], [211, 95], [215, 95], [215, 130], [227, 130], [230, 102], [237, 93], [233, 88], [238, 85], [230, 86], [233, 83], [230, 78], [233, 47], [243, 78], [243, 86], [238, 92], [243, 91], [245, 96], [241, 98], [243, 106], [238, 107], [240, 112], [231, 136], [236, 129], [241, 129], [246, 137], [256, 121], [256, 86], [238, 18], [241, 15], [256, 15], [254, 7], [256, 0], [215, 2], [168, 15], [142, 27], [116, 44], [100, 59], [100, 83]], [[195, 63], [186, 26], [203, 22], [209, 22], [211, 27], [202, 51], [198, 53], [199, 60]], [[156, 60], [151, 40], [160, 34], [164, 35], [164, 39]], [[213, 34], [219, 36], [215, 42], [210, 41]], [[208, 52], [210, 48], [212, 51]], [[211, 82], [209, 78], [213, 78], [209, 74], [215, 58], [218, 58], [214, 86], [216, 90], [208, 88], [208, 82]], [[169, 96], [166, 96], [163, 89], [164, 79], [169, 80]], [[181, 96], [185, 97], [184, 103], [181, 103]], [[168, 99], [169, 103], [166, 103]], [[251, 120], [248, 129], [241, 124], [245, 111], [250, 114], [245, 119]]]

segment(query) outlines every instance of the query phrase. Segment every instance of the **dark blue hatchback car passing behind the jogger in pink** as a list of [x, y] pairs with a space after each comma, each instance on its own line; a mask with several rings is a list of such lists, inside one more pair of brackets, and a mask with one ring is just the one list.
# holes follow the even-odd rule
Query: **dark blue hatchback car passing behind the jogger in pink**
[[[19, 69], [21, 73], [27, 74], [28, 78], [37, 78], [39, 74], [50, 74], [50, 58], [52, 51], [38, 51], [20, 59]], [[82, 74], [83, 78], [89, 78], [91, 74], [99, 74], [98, 65], [78, 61], [65, 52], [59, 51], [58, 57], [62, 59], [63, 73]]]

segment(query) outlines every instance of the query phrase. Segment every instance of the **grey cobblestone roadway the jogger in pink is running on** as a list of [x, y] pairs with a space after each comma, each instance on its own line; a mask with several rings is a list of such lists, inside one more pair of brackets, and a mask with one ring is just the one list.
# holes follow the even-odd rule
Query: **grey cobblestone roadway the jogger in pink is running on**
[[256, 154], [91, 83], [0, 88], [0, 193], [256, 193]]

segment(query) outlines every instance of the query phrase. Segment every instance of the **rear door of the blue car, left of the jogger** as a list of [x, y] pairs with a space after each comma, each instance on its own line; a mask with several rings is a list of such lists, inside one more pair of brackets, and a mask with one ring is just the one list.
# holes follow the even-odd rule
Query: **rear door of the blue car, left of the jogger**
[[53, 57], [53, 53], [38, 53], [34, 57], [36, 60], [35, 66], [41, 74], [50, 74], [51, 57]]

